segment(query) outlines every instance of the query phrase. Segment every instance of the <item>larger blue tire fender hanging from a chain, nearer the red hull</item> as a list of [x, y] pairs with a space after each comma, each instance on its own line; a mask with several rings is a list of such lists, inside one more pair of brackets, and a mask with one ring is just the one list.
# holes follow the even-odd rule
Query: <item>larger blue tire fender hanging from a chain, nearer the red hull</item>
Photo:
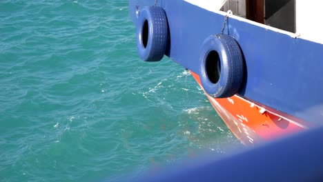
[[207, 94], [226, 98], [236, 94], [244, 77], [244, 59], [235, 39], [211, 35], [202, 44], [199, 77]]

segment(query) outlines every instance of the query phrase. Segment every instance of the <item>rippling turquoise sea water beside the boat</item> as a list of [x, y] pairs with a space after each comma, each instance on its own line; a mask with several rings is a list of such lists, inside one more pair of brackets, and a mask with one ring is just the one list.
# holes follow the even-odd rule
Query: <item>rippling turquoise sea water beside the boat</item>
[[106, 181], [240, 145], [128, 1], [0, 1], [0, 181]]

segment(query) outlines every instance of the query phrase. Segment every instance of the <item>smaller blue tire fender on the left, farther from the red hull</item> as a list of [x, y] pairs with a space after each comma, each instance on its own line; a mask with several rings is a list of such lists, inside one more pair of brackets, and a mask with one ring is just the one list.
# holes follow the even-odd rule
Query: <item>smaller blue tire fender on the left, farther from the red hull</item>
[[166, 13], [159, 6], [146, 6], [137, 21], [137, 50], [144, 61], [159, 61], [164, 57], [168, 42]]

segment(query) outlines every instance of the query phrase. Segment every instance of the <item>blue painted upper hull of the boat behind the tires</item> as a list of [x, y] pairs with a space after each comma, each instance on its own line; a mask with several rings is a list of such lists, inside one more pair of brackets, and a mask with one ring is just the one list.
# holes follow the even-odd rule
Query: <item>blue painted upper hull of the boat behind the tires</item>
[[[135, 25], [136, 7], [153, 6], [154, 0], [130, 0]], [[224, 16], [182, 0], [158, 1], [170, 29], [167, 55], [199, 74], [199, 53], [204, 40], [219, 34]], [[323, 122], [323, 45], [229, 18], [224, 33], [235, 37], [246, 63], [239, 94], [312, 123]], [[320, 35], [318, 35], [320, 36]]]

